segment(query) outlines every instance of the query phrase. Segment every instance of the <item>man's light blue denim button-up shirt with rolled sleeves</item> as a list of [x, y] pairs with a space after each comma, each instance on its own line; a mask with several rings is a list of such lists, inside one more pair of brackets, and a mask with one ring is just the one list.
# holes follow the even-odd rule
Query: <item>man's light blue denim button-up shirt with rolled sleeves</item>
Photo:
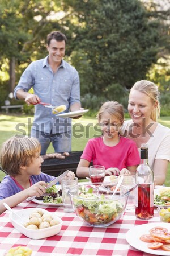
[[[29, 64], [14, 90], [15, 98], [17, 90], [22, 89], [24, 92], [28, 92], [31, 87], [42, 102], [50, 103], [53, 106], [66, 105], [66, 112], [69, 112], [72, 104], [80, 102], [78, 72], [65, 60], [62, 60], [56, 73], [52, 71], [48, 63], [48, 56]], [[33, 126], [36, 127], [36, 130], [49, 134], [63, 133], [71, 130], [71, 119], [59, 118], [52, 113], [52, 109], [37, 104], [35, 105]]]

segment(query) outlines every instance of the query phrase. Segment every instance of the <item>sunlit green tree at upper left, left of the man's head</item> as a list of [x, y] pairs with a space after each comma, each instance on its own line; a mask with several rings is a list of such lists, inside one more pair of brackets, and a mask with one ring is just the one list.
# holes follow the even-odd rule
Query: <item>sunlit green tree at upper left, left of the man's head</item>
[[[0, 63], [8, 60], [9, 91], [13, 92], [20, 74], [32, 59], [37, 59], [41, 38], [52, 28], [48, 19], [60, 10], [57, 1], [13, 0], [0, 2]], [[48, 31], [48, 32], [47, 32]], [[39, 46], [37, 45], [39, 42]], [[45, 40], [41, 42], [45, 48]], [[23, 66], [22, 66], [23, 65]]]

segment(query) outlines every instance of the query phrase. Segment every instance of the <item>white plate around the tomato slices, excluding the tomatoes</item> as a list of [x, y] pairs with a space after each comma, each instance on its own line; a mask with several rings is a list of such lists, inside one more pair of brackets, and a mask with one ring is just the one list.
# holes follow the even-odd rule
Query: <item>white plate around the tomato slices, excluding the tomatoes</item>
[[[163, 222], [156, 222], [156, 223], [150, 223], [150, 224], [142, 224], [138, 226], [134, 226], [134, 228], [128, 230], [126, 233], [126, 240], [129, 243], [129, 245], [133, 246], [135, 249], [138, 249], [140, 251], [144, 251], [145, 253], [150, 253], [154, 255], [162, 255], [162, 256], [169, 256], [170, 251], [164, 251], [163, 249], [150, 249], [147, 247], [148, 242], [143, 242], [140, 237], [142, 235], [150, 234], [150, 230], [152, 228], [161, 227], [161, 228], [167, 228], [167, 223]], [[168, 232], [170, 229], [168, 230]], [[169, 246], [169, 243], [164, 243], [164, 245]]]

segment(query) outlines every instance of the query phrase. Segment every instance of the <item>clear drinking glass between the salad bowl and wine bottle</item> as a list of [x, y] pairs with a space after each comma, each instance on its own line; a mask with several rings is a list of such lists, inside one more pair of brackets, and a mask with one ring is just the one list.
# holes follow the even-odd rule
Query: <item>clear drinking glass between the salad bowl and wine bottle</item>
[[[124, 176], [124, 179], [122, 181], [122, 185], [124, 185], [125, 187], [128, 187], [129, 189], [134, 187], [135, 175], [124, 174], [123, 176]], [[129, 194], [126, 210], [132, 210], [134, 208], [134, 203], [135, 203], [135, 192], [133, 190]]]

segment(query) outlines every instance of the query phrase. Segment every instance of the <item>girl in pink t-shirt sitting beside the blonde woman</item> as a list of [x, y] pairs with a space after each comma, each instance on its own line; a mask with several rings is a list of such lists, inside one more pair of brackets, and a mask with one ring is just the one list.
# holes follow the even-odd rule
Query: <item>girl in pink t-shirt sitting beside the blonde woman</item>
[[117, 101], [105, 102], [97, 118], [103, 136], [88, 141], [76, 170], [77, 176], [89, 176], [90, 162], [104, 166], [106, 175], [134, 174], [140, 158], [135, 142], [120, 136], [123, 106]]

